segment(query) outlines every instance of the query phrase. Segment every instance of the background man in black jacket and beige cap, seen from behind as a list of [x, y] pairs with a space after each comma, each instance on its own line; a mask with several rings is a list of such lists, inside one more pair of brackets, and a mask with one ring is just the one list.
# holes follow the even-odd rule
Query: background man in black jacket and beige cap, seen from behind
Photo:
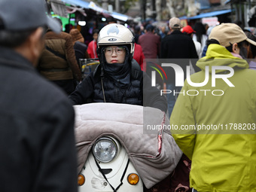
[[[178, 64], [183, 69], [184, 75], [186, 75], [186, 66], [190, 65], [189, 59], [198, 59], [197, 50], [192, 38], [184, 35], [181, 32], [181, 20], [177, 17], [172, 17], [169, 20], [169, 29], [171, 34], [163, 38], [161, 42], [161, 59], [169, 59], [169, 62]], [[192, 64], [196, 72], [199, 71], [196, 62], [192, 60]], [[168, 81], [166, 81], [167, 90], [174, 90], [179, 92], [181, 87], [175, 87], [175, 72], [169, 68], [165, 70]], [[172, 114], [172, 108], [175, 105], [175, 95], [167, 94], [168, 111], [169, 116]]]

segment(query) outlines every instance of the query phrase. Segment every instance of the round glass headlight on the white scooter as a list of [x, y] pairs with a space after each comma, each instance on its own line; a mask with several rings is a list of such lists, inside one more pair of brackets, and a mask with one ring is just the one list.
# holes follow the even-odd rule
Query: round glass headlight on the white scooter
[[93, 145], [96, 160], [108, 163], [117, 155], [117, 144], [110, 138], [101, 138]]

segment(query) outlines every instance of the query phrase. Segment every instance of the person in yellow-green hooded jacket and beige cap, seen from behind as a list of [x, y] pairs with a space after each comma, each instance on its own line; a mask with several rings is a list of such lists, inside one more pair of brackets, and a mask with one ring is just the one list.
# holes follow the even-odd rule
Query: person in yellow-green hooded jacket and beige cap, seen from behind
[[243, 59], [256, 42], [233, 23], [212, 29], [210, 41], [175, 103], [172, 136], [192, 161], [194, 191], [256, 191], [256, 72]]

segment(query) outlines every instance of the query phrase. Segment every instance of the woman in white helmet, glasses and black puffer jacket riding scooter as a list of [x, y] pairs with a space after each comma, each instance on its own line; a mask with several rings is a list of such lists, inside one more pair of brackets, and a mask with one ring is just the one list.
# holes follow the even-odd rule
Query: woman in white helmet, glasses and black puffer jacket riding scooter
[[151, 78], [133, 59], [134, 36], [113, 23], [103, 27], [97, 42], [99, 66], [69, 96], [74, 105], [115, 102], [150, 106], [166, 112], [166, 98], [151, 87]]

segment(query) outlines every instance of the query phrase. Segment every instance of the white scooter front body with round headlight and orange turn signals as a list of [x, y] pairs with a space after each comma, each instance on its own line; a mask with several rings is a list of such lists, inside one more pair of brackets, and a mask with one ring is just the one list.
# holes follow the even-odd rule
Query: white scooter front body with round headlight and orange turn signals
[[[79, 191], [143, 191], [139, 173], [117, 139], [97, 139], [79, 175]], [[87, 182], [85, 182], [87, 181]], [[119, 191], [119, 190], [118, 190]]]

